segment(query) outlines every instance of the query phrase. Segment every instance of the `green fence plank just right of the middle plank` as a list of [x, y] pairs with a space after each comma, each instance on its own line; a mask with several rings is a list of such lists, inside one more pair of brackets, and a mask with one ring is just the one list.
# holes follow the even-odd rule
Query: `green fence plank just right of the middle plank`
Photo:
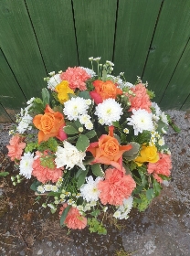
[[114, 74], [135, 82], [142, 75], [162, 0], [120, 0], [116, 30]]

